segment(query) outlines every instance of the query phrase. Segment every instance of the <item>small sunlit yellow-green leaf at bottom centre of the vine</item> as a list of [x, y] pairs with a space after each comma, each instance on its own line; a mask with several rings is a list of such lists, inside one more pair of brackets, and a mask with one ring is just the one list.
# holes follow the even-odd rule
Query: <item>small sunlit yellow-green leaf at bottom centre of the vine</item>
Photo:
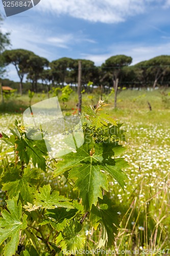
[[66, 225], [63, 232], [60, 232], [56, 239], [56, 245], [66, 251], [75, 252], [76, 250], [82, 249], [86, 237], [79, 233], [81, 229], [82, 225], [77, 220], [71, 220], [70, 223]]

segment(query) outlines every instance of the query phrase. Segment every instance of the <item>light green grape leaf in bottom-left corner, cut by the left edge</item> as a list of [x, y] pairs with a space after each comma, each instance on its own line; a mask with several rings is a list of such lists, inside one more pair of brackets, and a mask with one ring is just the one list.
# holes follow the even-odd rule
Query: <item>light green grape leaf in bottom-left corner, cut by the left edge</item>
[[22, 215], [22, 205], [15, 198], [11, 200], [6, 200], [7, 210], [1, 212], [2, 217], [0, 218], [0, 245], [7, 239], [11, 240], [4, 247], [4, 255], [12, 256], [17, 250], [19, 244], [19, 231], [21, 229], [26, 229], [27, 227], [27, 215], [23, 215], [23, 220], [21, 220]]

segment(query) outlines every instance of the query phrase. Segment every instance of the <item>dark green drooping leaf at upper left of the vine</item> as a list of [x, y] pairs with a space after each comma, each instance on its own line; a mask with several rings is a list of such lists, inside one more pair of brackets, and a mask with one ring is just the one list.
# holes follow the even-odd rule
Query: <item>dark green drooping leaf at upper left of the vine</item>
[[18, 151], [18, 156], [21, 161], [25, 161], [26, 164], [29, 164], [32, 158], [34, 166], [37, 164], [39, 168], [45, 171], [46, 160], [44, 156], [47, 155], [47, 148], [44, 140], [21, 138], [20, 140], [16, 140], [15, 143], [17, 144], [16, 150]]

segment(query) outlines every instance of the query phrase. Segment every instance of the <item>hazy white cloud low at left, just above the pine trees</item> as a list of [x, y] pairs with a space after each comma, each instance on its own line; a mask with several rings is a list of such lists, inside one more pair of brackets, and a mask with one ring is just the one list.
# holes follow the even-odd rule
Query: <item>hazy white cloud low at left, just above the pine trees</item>
[[[93, 39], [88, 38], [85, 34], [80, 33], [54, 33], [51, 36], [51, 32], [48, 29], [40, 29], [34, 27], [34, 25], [23, 24], [18, 27], [18, 24], [4, 23], [3, 33], [10, 32], [10, 39], [12, 42], [12, 49], [27, 49], [33, 51], [35, 54], [54, 59], [54, 53], [52, 53], [50, 46], [55, 47], [55, 54], [59, 48], [71, 49], [72, 46], [81, 44], [83, 41], [94, 44]], [[57, 49], [58, 48], [58, 49]]]

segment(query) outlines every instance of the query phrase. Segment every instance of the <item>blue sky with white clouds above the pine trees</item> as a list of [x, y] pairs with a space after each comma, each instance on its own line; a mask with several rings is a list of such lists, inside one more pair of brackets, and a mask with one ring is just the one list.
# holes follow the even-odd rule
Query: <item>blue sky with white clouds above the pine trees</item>
[[[1, 13], [5, 14], [0, 0]], [[125, 54], [132, 64], [170, 55], [170, 0], [41, 0], [4, 19], [10, 49], [27, 49], [52, 61], [82, 58], [100, 66]], [[15, 69], [8, 78], [18, 81]]]

